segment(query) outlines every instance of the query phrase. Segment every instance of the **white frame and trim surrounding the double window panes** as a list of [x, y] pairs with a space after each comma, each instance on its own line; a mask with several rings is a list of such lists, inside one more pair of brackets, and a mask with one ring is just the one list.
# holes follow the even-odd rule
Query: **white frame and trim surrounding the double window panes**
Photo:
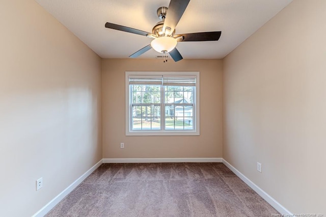
[[[194, 114], [195, 114], [195, 123], [193, 130], [142, 130], [142, 131], [132, 131], [131, 130], [131, 102], [129, 98], [130, 90], [129, 90], [129, 75], [172, 75], [172, 76], [196, 76], [196, 91], [195, 91], [195, 99], [194, 99]], [[125, 127], [126, 127], [126, 135], [200, 135], [200, 73], [199, 71], [182, 71], [182, 72], [149, 72], [149, 71], [126, 71], [125, 72]], [[161, 113], [165, 113], [164, 110]], [[164, 120], [161, 120], [164, 121]]]

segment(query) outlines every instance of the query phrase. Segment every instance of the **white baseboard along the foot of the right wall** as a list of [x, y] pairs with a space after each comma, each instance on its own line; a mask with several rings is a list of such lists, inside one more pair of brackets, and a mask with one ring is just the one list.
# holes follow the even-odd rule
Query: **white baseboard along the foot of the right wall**
[[264, 192], [260, 187], [258, 187], [254, 182], [244, 176], [240, 171], [235, 169], [232, 165], [229, 164], [228, 161], [223, 159], [223, 164], [227, 166], [235, 175], [237, 175], [244, 183], [248, 184], [260, 197], [262, 197], [267, 203], [273, 206], [277, 211], [281, 214], [288, 214], [289, 216], [294, 216], [289, 210], [287, 210], [284, 206], [282, 206], [279, 202], [277, 202], [274, 198], [270, 197], [266, 192]]

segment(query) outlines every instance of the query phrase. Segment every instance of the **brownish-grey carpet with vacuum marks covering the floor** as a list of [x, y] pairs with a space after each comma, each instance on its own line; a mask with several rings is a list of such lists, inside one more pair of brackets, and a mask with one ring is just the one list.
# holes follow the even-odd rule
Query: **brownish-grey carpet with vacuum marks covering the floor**
[[222, 163], [103, 164], [46, 216], [271, 216]]

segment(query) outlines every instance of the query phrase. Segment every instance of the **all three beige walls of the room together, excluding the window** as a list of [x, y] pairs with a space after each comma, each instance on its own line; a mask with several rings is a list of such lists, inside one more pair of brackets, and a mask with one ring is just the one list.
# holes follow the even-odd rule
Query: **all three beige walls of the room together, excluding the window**
[[[324, 11], [294, 0], [223, 61], [165, 64], [101, 62], [33, 0], [2, 1], [0, 215], [31, 216], [102, 156], [224, 157], [291, 212], [326, 214]], [[201, 72], [200, 136], [125, 136], [125, 71], [142, 70]]]

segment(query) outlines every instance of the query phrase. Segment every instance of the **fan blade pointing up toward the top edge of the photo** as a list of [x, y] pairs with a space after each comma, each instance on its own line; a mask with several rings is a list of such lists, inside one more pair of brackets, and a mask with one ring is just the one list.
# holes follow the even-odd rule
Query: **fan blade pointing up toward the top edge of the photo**
[[164, 20], [164, 32], [166, 28], [169, 27], [171, 28], [170, 33], [173, 33], [175, 26], [177, 26], [189, 2], [190, 0], [171, 0], [167, 11], [167, 16]]

